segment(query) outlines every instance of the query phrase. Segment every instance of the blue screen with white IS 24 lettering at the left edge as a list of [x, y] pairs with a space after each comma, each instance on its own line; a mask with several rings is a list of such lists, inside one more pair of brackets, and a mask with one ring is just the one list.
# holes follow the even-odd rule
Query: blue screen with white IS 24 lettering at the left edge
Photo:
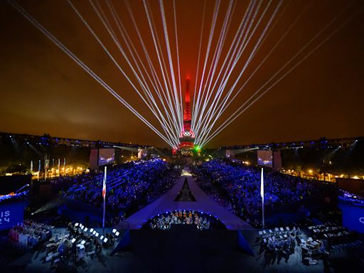
[[24, 202], [0, 204], [0, 230], [7, 230], [17, 223], [23, 223]]

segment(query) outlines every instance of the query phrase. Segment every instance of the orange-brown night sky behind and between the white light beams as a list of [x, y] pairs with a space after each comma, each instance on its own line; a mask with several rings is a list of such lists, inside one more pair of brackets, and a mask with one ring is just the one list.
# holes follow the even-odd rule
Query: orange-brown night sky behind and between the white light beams
[[[266, 6], [267, 2], [264, 0], [262, 7]], [[67, 1], [33, 0], [18, 1], [18, 3], [97, 75], [100, 75], [130, 105], [158, 127], [158, 122], [137, 96], [137, 92], [132, 90], [131, 85], [119, 73]], [[127, 63], [92, 10], [89, 1], [73, 1], [73, 3], [90, 26], [95, 28], [95, 33], [105, 42], [112, 55], [125, 68], [127, 75], [136, 82], [132, 70], [127, 68]], [[100, 1], [100, 3], [107, 11], [105, 2]], [[129, 1], [129, 4], [146, 48], [154, 52], [143, 2]], [[223, 17], [228, 4], [228, 1], [221, 1], [217, 30], [223, 26]], [[237, 1], [234, 4], [231, 25], [225, 41], [226, 47], [223, 48], [222, 55], [227, 53], [226, 48], [235, 35], [247, 4], [247, 1]], [[277, 4], [278, 1], [272, 2], [272, 8], [269, 8], [262, 23], [267, 23]], [[149, 1], [149, 5], [156, 20], [159, 38], [164, 41], [159, 1]], [[208, 43], [207, 30], [211, 25], [214, 5], [215, 1], [206, 1], [203, 55]], [[114, 1], [114, 6], [134, 45], [142, 55], [142, 48], [138, 43], [138, 36], [127, 6], [124, 1]], [[196, 78], [203, 6], [204, 1], [176, 0], [181, 75], [182, 77], [191, 75], [193, 85]], [[174, 47], [173, 2], [165, 0], [164, 7], [167, 25], [171, 31], [169, 38]], [[301, 18], [232, 102], [225, 114], [220, 117], [217, 124], [221, 124], [229, 117], [341, 11], [344, 10], [338, 20], [329, 26], [317, 41], [300, 55], [301, 57], [309, 53], [350, 16], [355, 13], [356, 15], [255, 105], [215, 137], [208, 146], [364, 136], [363, 9], [364, 1], [361, 0], [283, 1], [273, 21], [275, 23], [278, 20], [277, 23], [274, 24], [272, 31], [269, 31], [269, 35], [237, 83], [237, 87], [242, 85], [284, 31], [301, 11], [304, 11]], [[262, 29], [259, 27], [257, 33], [261, 33]], [[6, 1], [0, 2], [0, 35], [1, 132], [49, 133], [54, 137], [167, 145]], [[254, 36], [252, 41], [257, 41], [257, 36]], [[214, 49], [217, 42], [216, 35], [213, 38]], [[251, 50], [252, 45], [248, 45], [247, 52]], [[172, 53], [175, 52], [173, 48]], [[167, 56], [166, 50], [164, 54]], [[151, 58], [157, 65], [155, 54]], [[173, 55], [173, 58], [176, 56]], [[247, 56], [243, 55], [235, 71], [232, 72], [228, 86], [232, 85], [245, 60]], [[294, 63], [296, 62], [292, 65]]]

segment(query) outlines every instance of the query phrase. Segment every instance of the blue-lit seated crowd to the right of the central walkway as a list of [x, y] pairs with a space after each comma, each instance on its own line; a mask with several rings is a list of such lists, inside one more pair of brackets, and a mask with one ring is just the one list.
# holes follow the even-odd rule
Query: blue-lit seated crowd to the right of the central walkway
[[[199, 186], [220, 205], [244, 218], [250, 225], [260, 225], [260, 169], [211, 160], [196, 168], [195, 175]], [[317, 191], [316, 183], [306, 179], [264, 172], [266, 208], [296, 203]]]

